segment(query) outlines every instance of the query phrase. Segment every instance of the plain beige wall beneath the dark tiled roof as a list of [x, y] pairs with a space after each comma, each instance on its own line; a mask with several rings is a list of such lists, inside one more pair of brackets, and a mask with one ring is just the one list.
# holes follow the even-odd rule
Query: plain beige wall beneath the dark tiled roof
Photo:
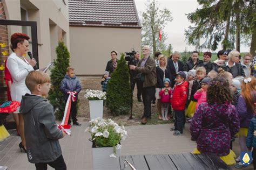
[[71, 66], [77, 75], [103, 75], [110, 52], [140, 51], [141, 29], [70, 26]]

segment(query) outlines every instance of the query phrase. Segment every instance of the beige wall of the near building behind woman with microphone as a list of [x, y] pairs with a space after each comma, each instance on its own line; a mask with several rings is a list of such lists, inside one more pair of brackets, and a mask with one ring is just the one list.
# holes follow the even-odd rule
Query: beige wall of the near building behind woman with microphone
[[[37, 22], [39, 67], [48, 65], [56, 58], [58, 30], [65, 33], [63, 40], [70, 49], [68, 0], [2, 0], [2, 2], [6, 19], [21, 20], [22, 8], [28, 13], [29, 21]], [[10, 26], [9, 37], [21, 31], [21, 26]], [[57, 33], [56, 36], [52, 36], [55, 33]]]

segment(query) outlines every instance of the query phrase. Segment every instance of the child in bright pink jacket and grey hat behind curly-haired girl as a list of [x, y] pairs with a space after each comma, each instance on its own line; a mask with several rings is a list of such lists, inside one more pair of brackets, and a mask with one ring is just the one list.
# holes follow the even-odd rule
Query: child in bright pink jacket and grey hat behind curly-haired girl
[[206, 93], [208, 84], [212, 81], [212, 78], [206, 77], [201, 82], [201, 88], [194, 94], [194, 98], [197, 100], [196, 110], [201, 103], [207, 102]]

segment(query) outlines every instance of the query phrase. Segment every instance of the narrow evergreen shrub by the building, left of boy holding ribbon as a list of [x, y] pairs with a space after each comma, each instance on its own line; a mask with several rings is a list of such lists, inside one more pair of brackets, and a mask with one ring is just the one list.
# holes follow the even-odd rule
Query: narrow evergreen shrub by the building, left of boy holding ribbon
[[60, 82], [66, 74], [66, 68], [69, 67], [70, 54], [64, 42], [59, 41], [56, 47], [57, 59], [53, 61], [54, 67], [51, 69], [51, 89], [49, 91], [49, 100], [55, 110], [57, 119], [62, 119], [65, 110], [65, 100], [62, 91], [60, 91]]

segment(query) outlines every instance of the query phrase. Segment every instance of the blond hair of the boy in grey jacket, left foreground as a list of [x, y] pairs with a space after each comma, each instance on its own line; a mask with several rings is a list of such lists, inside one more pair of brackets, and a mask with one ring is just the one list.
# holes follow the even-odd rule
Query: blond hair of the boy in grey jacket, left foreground
[[37, 84], [49, 83], [50, 77], [44, 72], [32, 71], [26, 76], [26, 87], [32, 92]]

